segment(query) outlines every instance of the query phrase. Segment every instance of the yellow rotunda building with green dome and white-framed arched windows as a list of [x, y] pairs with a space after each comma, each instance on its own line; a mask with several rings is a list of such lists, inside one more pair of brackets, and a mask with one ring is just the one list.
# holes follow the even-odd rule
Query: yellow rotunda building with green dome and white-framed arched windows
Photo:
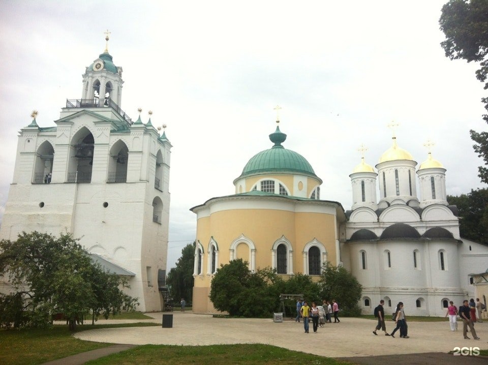
[[[279, 124], [279, 121], [277, 121]], [[193, 311], [216, 312], [208, 296], [221, 264], [243, 259], [254, 271], [320, 276], [322, 264], [340, 262], [345, 237], [342, 205], [320, 200], [322, 180], [301, 155], [286, 149], [279, 125], [274, 144], [252, 157], [234, 180], [235, 194], [191, 208], [197, 215]]]

